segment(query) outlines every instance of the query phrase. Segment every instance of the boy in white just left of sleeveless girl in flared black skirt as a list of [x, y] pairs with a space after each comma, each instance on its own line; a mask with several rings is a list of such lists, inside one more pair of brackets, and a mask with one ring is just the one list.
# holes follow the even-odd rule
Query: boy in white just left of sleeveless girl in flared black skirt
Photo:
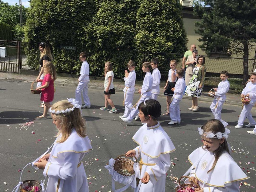
[[161, 73], [158, 70], [158, 59], [154, 58], [151, 60], [151, 68], [153, 69], [152, 76], [153, 76], [153, 86], [152, 86], [152, 99], [157, 100], [158, 94], [160, 93], [160, 79]]

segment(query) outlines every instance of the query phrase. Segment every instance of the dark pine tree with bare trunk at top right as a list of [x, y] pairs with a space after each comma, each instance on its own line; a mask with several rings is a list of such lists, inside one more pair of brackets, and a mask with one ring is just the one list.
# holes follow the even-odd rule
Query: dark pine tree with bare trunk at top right
[[207, 53], [222, 49], [231, 54], [243, 54], [243, 82], [248, 80], [249, 50], [255, 47], [256, 4], [255, 0], [198, 0], [194, 15], [196, 32], [202, 36], [200, 48]]

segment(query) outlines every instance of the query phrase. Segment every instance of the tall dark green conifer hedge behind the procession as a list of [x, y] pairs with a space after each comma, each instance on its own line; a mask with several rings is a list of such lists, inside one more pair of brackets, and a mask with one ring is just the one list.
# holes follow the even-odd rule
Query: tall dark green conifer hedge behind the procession
[[[26, 38], [28, 64], [34, 69], [38, 68], [38, 45], [45, 41], [52, 46], [58, 72], [79, 73], [79, 53], [87, 51], [91, 75], [103, 76], [104, 63], [110, 61], [118, 78], [123, 78], [130, 59], [141, 71], [143, 51], [182, 53], [187, 49], [181, 6], [175, 0], [33, 0]], [[61, 45], [76, 50], [61, 49]]]

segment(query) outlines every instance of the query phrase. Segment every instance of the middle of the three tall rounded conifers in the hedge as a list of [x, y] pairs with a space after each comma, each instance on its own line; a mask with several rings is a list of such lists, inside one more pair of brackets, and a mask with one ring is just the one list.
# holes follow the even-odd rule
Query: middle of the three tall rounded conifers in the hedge
[[104, 72], [104, 63], [113, 62], [116, 77], [123, 77], [133, 58], [138, 0], [98, 0], [98, 12], [89, 25], [88, 45], [93, 74]]

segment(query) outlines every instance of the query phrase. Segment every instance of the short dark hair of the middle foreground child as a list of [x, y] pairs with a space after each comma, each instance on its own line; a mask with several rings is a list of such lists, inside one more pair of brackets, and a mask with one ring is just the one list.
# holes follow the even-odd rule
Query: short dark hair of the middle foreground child
[[154, 99], [149, 99], [140, 103], [138, 109], [144, 114], [146, 120], [149, 120], [149, 115], [153, 120], [157, 120], [161, 115], [161, 105]]

